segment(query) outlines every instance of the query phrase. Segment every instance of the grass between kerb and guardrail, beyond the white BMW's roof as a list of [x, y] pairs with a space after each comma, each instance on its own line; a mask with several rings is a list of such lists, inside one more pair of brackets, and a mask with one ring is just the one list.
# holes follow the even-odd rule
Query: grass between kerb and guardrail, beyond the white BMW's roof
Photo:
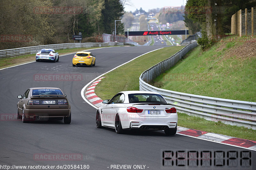
[[101, 99], [110, 99], [120, 91], [139, 90], [139, 77], [142, 72], [171, 57], [182, 48], [183, 46], [172, 46], [156, 50], [105, 74], [106, 78], [102, 79], [95, 89], [97, 96]]

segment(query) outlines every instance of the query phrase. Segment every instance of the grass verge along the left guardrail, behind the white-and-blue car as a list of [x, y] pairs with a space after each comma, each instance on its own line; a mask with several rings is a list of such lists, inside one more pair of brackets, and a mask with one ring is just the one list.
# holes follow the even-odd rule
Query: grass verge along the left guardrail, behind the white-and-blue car
[[[56, 52], [58, 52], [61, 56], [67, 53], [76, 53], [77, 51], [84, 51], [84, 50], [94, 49], [94, 48], [102, 48], [102, 47], [70, 48], [70, 49], [56, 50]], [[32, 60], [36, 60], [36, 53], [21, 55], [17, 57], [0, 58], [0, 69], [11, 67], [17, 64], [26, 63]]]

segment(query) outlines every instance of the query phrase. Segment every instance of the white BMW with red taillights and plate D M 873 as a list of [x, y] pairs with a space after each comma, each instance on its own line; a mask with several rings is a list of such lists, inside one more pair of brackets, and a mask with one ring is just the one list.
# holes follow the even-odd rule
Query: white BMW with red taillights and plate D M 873
[[176, 134], [177, 111], [157, 92], [122, 91], [102, 103], [96, 111], [97, 128], [114, 128], [116, 133], [140, 129]]

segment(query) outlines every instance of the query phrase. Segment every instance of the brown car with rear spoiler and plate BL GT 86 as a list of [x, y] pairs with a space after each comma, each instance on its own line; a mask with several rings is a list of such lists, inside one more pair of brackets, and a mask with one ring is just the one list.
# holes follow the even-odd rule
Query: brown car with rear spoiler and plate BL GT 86
[[65, 124], [71, 122], [71, 108], [66, 95], [59, 88], [29, 88], [24, 95], [18, 95], [17, 119], [23, 123], [55, 118]]

